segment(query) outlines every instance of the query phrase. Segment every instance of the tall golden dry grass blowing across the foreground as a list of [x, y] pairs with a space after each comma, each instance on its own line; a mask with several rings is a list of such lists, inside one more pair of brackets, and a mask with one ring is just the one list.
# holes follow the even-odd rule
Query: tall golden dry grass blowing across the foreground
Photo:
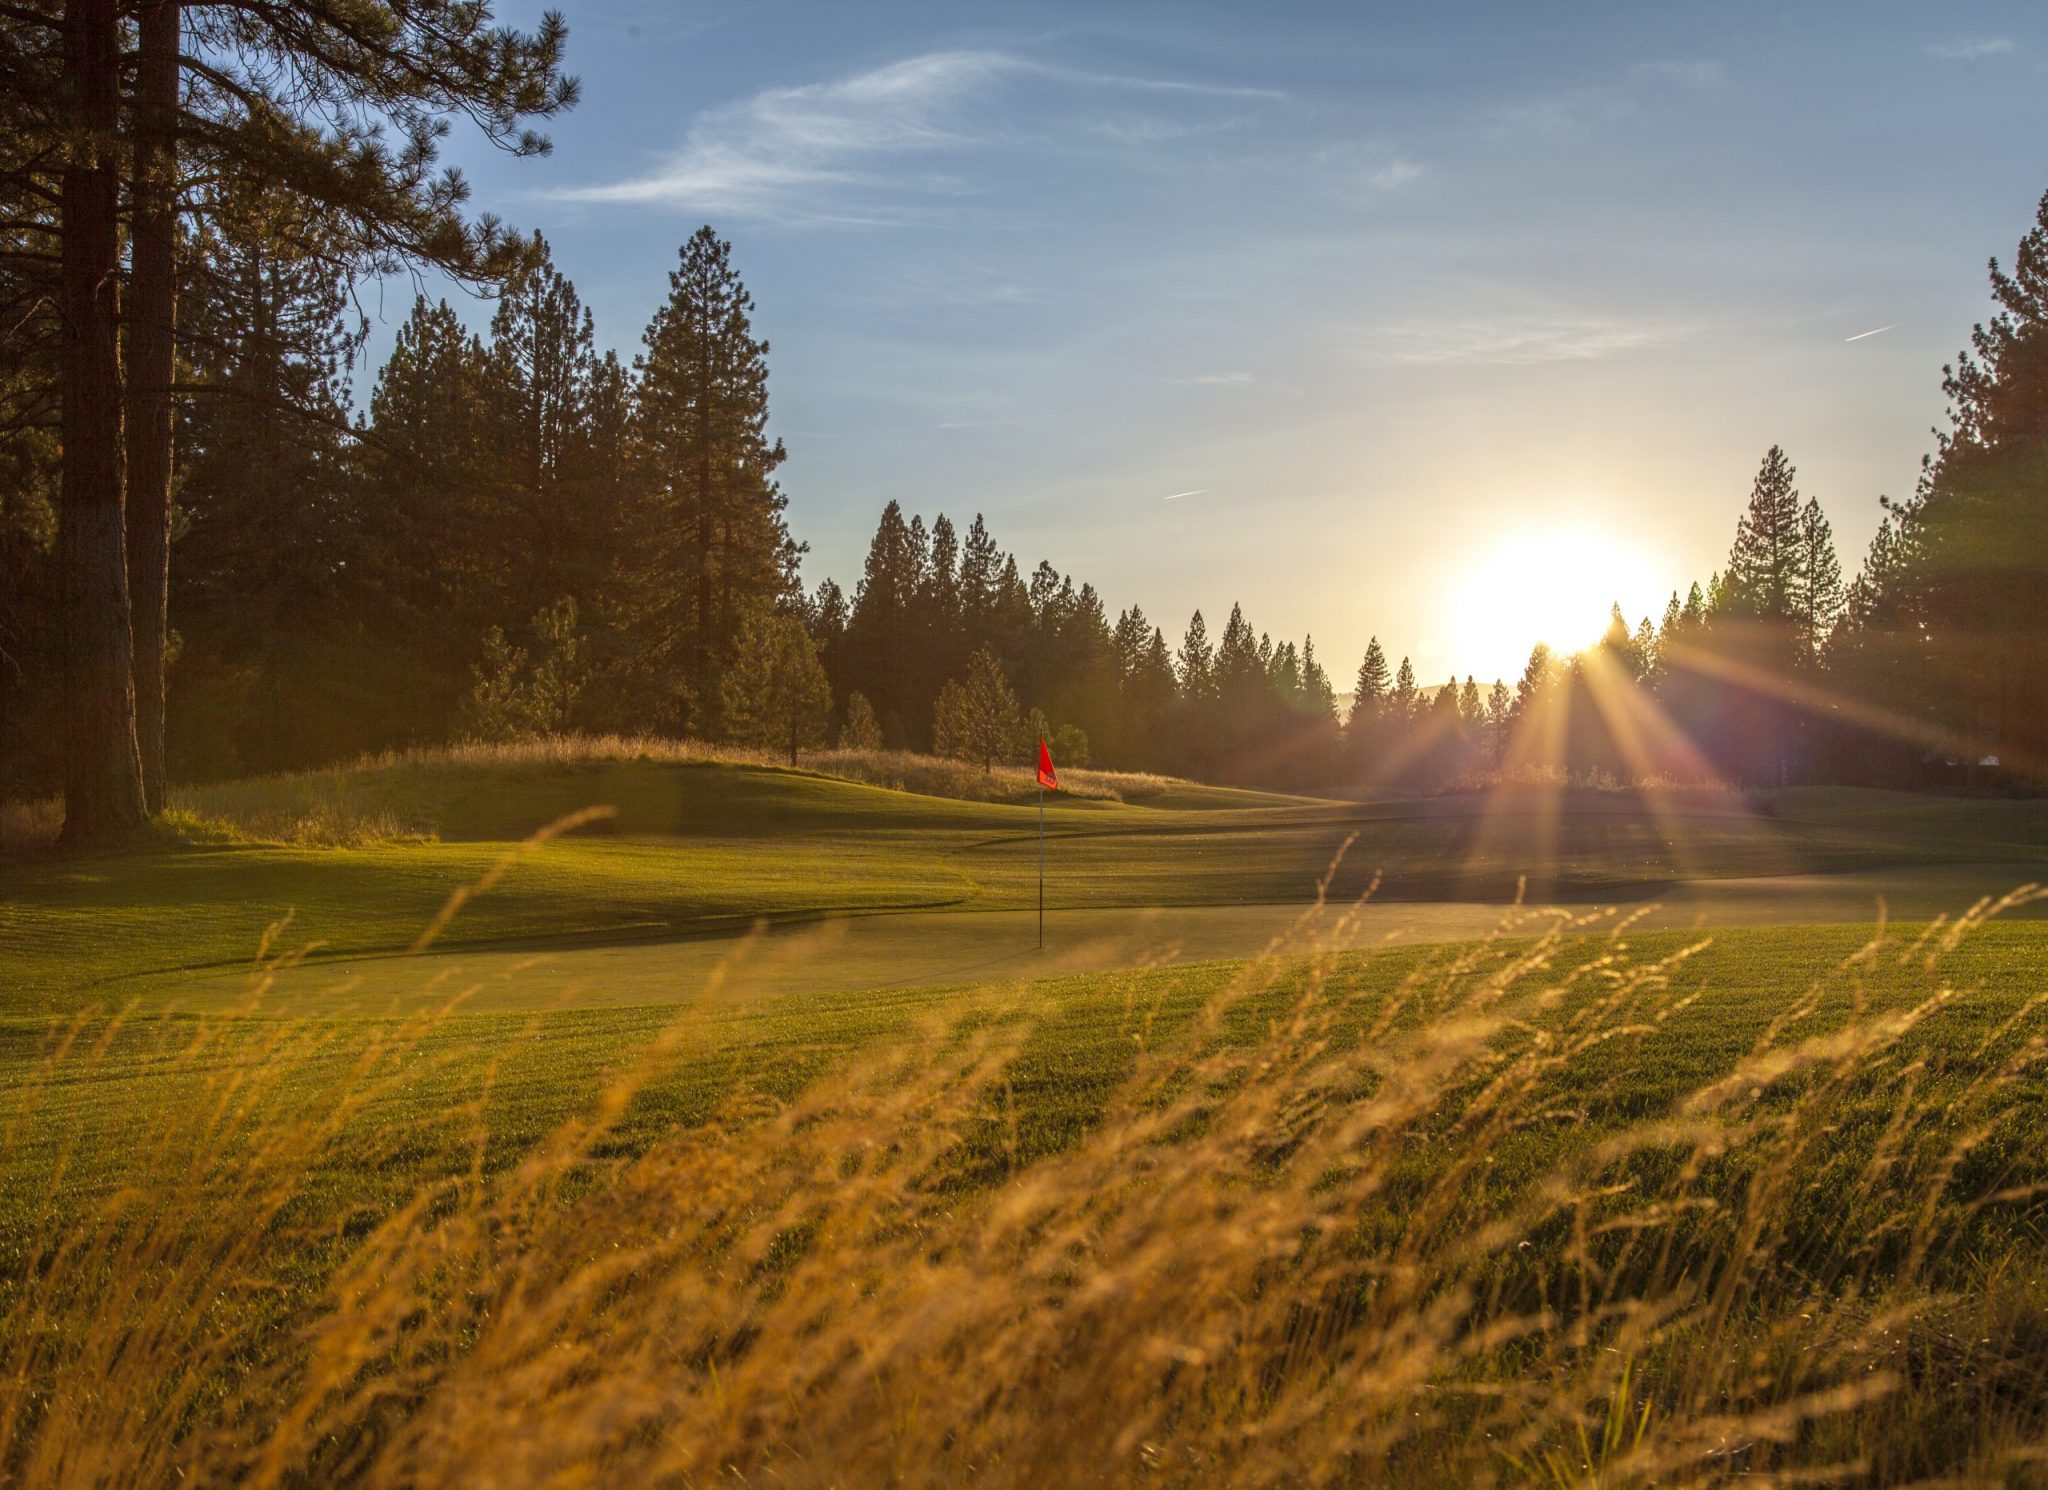
[[[1004, 1019], [623, 1152], [682, 1011], [502, 1173], [469, 1113], [467, 1158], [451, 1146], [342, 1248], [285, 1345], [221, 1332], [217, 1304], [256, 1287], [266, 1228], [424, 1025], [287, 1105], [268, 1095], [317, 1025], [217, 1060], [225, 1021], [199, 1021], [162, 1052], [199, 1099], [152, 1113], [150, 1187], [37, 1222], [0, 1334], [0, 1467], [2021, 1482], [2048, 1445], [2040, 1197], [2015, 1179], [2042, 1169], [2048, 995], [1989, 1017], [1946, 964], [2030, 896], [1880, 931], [1673, 1093], [1645, 1062], [1698, 1013], [1698, 946], [1642, 958], [1628, 925], [1518, 917], [1389, 989], [1329, 950], [1350, 913], [1319, 907], [1171, 1038], [1128, 984], [1130, 1079], [1036, 1158], [1008, 1066], [1028, 1023]], [[37, 1103], [109, 1048], [74, 1025], [6, 1097], [6, 1142], [61, 1148]]]

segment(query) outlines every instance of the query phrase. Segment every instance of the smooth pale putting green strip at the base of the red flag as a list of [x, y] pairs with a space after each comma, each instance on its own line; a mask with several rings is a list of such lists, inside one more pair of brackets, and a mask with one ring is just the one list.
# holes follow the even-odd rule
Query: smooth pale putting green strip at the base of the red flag
[[[1063, 907], [1038, 948], [1034, 911], [926, 911], [760, 923], [680, 939], [584, 948], [455, 948], [428, 956], [334, 958], [281, 970], [264, 1009], [395, 1013], [459, 999], [475, 1011], [674, 1005], [700, 997], [780, 999], [864, 989], [1024, 982], [1081, 972], [1249, 958], [1268, 948], [1364, 950], [1466, 941], [1567, 919], [1647, 929], [1872, 925], [1927, 921], [2025, 884], [2038, 866], [1921, 866], [1782, 878], [1704, 880], [1657, 899], [1516, 909], [1477, 901], [1233, 907]], [[2034, 915], [2023, 907], [2017, 915]], [[143, 1007], [231, 1009], [242, 970], [137, 980]]]

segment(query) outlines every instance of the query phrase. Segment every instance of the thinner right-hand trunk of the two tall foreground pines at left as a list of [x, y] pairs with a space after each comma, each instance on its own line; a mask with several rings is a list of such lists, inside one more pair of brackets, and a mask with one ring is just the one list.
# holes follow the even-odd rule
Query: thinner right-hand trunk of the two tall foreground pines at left
[[127, 551], [135, 606], [135, 743], [143, 800], [164, 810], [164, 651], [176, 366], [178, 0], [141, 12], [135, 74], [133, 272], [127, 364]]

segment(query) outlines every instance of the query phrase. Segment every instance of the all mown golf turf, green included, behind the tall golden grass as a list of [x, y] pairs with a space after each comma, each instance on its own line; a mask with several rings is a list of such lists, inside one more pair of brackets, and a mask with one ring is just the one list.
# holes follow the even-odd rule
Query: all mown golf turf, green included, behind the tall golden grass
[[[436, 1185], [467, 1175], [477, 1193], [516, 1189], [537, 1154], [578, 1132], [551, 1191], [569, 1203], [602, 1191], [606, 1165], [653, 1163], [678, 1134], [770, 1132], [821, 1083], [891, 1058], [989, 1050], [920, 1160], [920, 1185], [958, 1208], [1034, 1167], [1094, 1163], [1106, 1134], [1176, 1111], [1190, 1101], [1176, 1070], [1307, 1040], [1317, 1060], [1372, 1072], [1389, 1042], [1427, 1048], [1434, 1019], [1462, 1027], [1497, 999], [1518, 1013], [1473, 1050], [1536, 1062], [1528, 1091], [1542, 1101], [1487, 1130], [1485, 1185], [1460, 1179], [1432, 1222], [1460, 1234], [1700, 1101], [1757, 1052], [1804, 1050], [1860, 1021], [1919, 1011], [1882, 1054], [1858, 1056], [1862, 1075], [1841, 1077], [1829, 1097], [1841, 1152], [1825, 1165], [1868, 1165], [1892, 1142], [1901, 1081], [1919, 1083], [1921, 1105], [1950, 1093], [2009, 1118], [2040, 1101], [2032, 1066], [2011, 1064], [2038, 1042], [2038, 907], [1954, 937], [1935, 921], [2048, 878], [2048, 808], [2036, 802], [1849, 790], [1055, 798], [1040, 954], [1036, 817], [1022, 804], [727, 763], [379, 770], [406, 776], [350, 790], [406, 794], [432, 837], [303, 847], [217, 835], [0, 868], [0, 1277], [61, 1277], [66, 1259], [78, 1263], [68, 1218], [100, 1218], [84, 1251], [113, 1248], [102, 1269], [133, 1244], [109, 1238], [139, 1226], [158, 1238], [152, 1265], [170, 1291], [195, 1285], [195, 1318], [231, 1341], [195, 1353], [190, 1379], [156, 1408], [137, 1406], [137, 1433], [197, 1435], [238, 1394], [301, 1371], [301, 1332], [332, 1308], [338, 1269]], [[590, 806], [610, 813], [528, 843]], [[451, 892], [477, 884], [487, 888], [418, 948]], [[1892, 919], [1882, 941], [1880, 903]], [[1493, 978], [1499, 991], [1481, 999]], [[1585, 1021], [1612, 1029], [1595, 1040]], [[1544, 1064], [1526, 1040], [1571, 1058]], [[1458, 1060], [1479, 1064], [1446, 1060], [1442, 1089], [1405, 1120], [1425, 1146], [1389, 1160], [1386, 1212], [1360, 1218], [1368, 1232], [1403, 1234], [1401, 1218], [1438, 1203], [1432, 1185], [1464, 1173], [1458, 1113], [1495, 1101], [1495, 1056]], [[1802, 1075], [1817, 1060], [1757, 1077], [1763, 1101], [1780, 1093], [1796, 1109], [1821, 1081]], [[1196, 1095], [1202, 1081], [1219, 1095], [1176, 1120], [1176, 1144], [1206, 1142], [1243, 1077], [1198, 1079]], [[848, 1099], [836, 1101], [829, 1111]], [[266, 1134], [293, 1136], [289, 1165]], [[2030, 1156], [2038, 1136], [2034, 1120], [1999, 1128], [1958, 1163], [1976, 1189], [2023, 1195], [2048, 1177]], [[1448, 1148], [1432, 1156], [1432, 1142]], [[1667, 1171], [1642, 1163], [1630, 1183], [1663, 1185]], [[1720, 1203], [1757, 1183], [1731, 1163], [1698, 1181]], [[113, 1224], [104, 1208], [121, 1195]], [[193, 1232], [195, 1203], [258, 1218], [264, 1242], [231, 1253], [231, 1289], [217, 1277], [199, 1287], [172, 1261], [182, 1253], [164, 1236]], [[1847, 1267], [1831, 1251], [1845, 1244], [1841, 1218], [1804, 1206], [1778, 1216], [1780, 1242], [1833, 1277]], [[1931, 1269], [1915, 1285], [2019, 1267], [2036, 1226], [2030, 1201], [1980, 1206], [1939, 1259], [1915, 1263]], [[1544, 1251], [1556, 1236], [1532, 1236], [1542, 1259], [1561, 1257]], [[1546, 1287], [1548, 1265], [1487, 1277]], [[27, 1330], [12, 1355], [23, 1382], [43, 1373], [53, 1390], [66, 1351], [88, 1355], [94, 1326], [68, 1314], [80, 1298], [0, 1283], [0, 1314]], [[25, 1400], [43, 1406], [23, 1408], [23, 1422], [47, 1408]]]

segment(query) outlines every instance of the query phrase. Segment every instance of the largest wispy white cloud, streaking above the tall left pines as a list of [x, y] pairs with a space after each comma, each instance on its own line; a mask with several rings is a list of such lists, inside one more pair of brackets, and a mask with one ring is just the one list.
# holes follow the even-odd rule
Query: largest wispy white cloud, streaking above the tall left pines
[[[1141, 94], [1153, 108], [1274, 100], [1270, 88], [1085, 72], [1010, 51], [930, 51], [850, 78], [766, 88], [698, 115], [682, 145], [655, 170], [627, 180], [553, 192], [559, 201], [637, 203], [756, 217], [819, 221], [903, 219], [883, 194], [965, 196], [973, 172], [918, 172], [934, 162], [1001, 143], [991, 129], [997, 96], [1026, 84], [1053, 94], [1075, 90]], [[1014, 102], [1014, 100], [1010, 100]], [[1057, 100], [1036, 98], [1040, 108]], [[1065, 125], [1124, 143], [1214, 133], [1239, 121], [1208, 117], [1092, 119]], [[1014, 133], [1008, 135], [1014, 139]]]

